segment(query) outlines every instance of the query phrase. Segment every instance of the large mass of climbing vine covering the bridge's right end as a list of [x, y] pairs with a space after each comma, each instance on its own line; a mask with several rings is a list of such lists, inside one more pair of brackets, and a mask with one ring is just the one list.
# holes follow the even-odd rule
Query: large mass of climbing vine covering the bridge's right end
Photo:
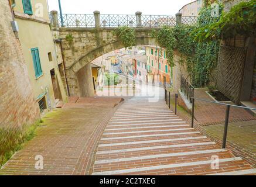
[[[195, 86], [206, 85], [217, 64], [219, 40], [206, 42], [194, 39], [196, 30], [219, 20], [219, 17], [211, 16], [213, 9], [210, 6], [202, 8], [195, 26], [162, 27], [152, 34], [158, 44], [165, 48], [169, 54], [167, 58], [171, 66], [174, 65], [173, 50], [179, 51], [182, 56], [180, 63], [186, 64], [187, 71], [192, 74], [192, 81]], [[219, 12], [222, 12], [222, 9], [223, 6], [220, 5]]]

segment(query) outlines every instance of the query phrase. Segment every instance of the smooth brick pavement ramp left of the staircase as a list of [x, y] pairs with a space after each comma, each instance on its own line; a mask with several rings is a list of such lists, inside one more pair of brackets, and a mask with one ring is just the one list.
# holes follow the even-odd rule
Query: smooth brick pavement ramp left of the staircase
[[[44, 117], [37, 136], [13, 155], [0, 175], [88, 175], [98, 139], [121, 99], [79, 100], [78, 107], [73, 101]], [[81, 106], [88, 100], [90, 105]], [[36, 155], [43, 156], [43, 169], [35, 169]]]

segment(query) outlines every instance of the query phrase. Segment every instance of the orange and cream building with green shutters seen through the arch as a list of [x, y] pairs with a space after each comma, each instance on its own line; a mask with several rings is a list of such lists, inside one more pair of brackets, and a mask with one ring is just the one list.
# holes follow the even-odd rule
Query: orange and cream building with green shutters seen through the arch
[[[172, 84], [173, 69], [168, 64], [165, 49], [156, 46], [146, 46], [146, 66], [148, 82], [159, 82], [161, 85]], [[159, 75], [159, 78], [156, 75]]]

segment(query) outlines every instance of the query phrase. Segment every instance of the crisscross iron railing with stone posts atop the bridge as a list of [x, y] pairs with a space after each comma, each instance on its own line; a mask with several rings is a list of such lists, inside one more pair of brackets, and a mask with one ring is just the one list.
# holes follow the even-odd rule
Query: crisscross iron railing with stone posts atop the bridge
[[[50, 16], [52, 17], [52, 16]], [[195, 16], [168, 16], [168, 15], [111, 15], [111, 14], [58, 14], [59, 25], [63, 27], [149, 27], [159, 28], [162, 26], [173, 27], [178, 24], [195, 25]]]

